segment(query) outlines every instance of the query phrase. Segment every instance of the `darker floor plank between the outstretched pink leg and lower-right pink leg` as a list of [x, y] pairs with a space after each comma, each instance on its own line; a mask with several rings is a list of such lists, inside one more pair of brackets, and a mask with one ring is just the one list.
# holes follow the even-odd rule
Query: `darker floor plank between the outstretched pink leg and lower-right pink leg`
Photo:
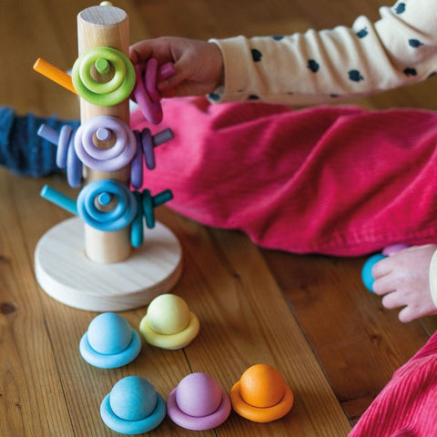
[[263, 251], [290, 308], [327, 372], [345, 412], [356, 422], [399, 368], [428, 340], [419, 321], [361, 283], [365, 258], [338, 259]]

